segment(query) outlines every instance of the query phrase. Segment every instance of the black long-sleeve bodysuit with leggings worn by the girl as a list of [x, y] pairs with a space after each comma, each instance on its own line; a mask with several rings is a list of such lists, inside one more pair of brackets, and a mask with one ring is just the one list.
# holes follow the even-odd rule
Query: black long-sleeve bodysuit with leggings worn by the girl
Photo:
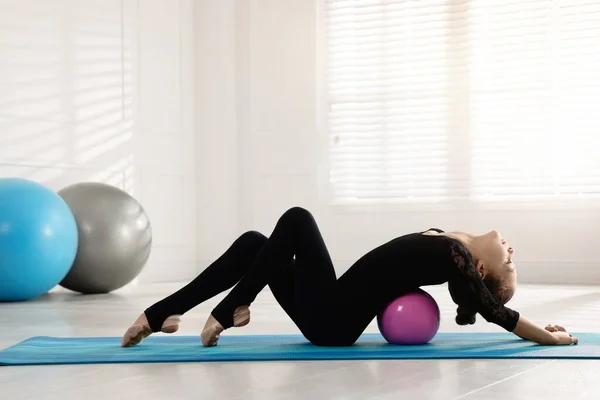
[[250, 305], [269, 285], [309, 341], [345, 346], [390, 301], [445, 282], [453, 285], [457, 303], [466, 302], [488, 322], [514, 330], [519, 314], [490, 293], [459, 241], [422, 232], [400, 236], [365, 254], [338, 279], [313, 216], [296, 207], [282, 215], [269, 238], [258, 232], [243, 234], [196, 279], [145, 313], [157, 332], [169, 315], [184, 314], [233, 287], [212, 312], [229, 328], [234, 310]]

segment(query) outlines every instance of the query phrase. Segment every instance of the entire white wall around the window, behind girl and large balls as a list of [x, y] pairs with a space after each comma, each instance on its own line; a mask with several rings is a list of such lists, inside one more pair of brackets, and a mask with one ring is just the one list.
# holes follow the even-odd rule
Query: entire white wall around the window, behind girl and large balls
[[140, 279], [188, 279], [311, 209], [339, 273], [431, 226], [499, 229], [524, 280], [599, 283], [598, 211], [357, 212], [326, 203], [317, 0], [0, 0], [0, 175], [99, 180], [150, 214]]

